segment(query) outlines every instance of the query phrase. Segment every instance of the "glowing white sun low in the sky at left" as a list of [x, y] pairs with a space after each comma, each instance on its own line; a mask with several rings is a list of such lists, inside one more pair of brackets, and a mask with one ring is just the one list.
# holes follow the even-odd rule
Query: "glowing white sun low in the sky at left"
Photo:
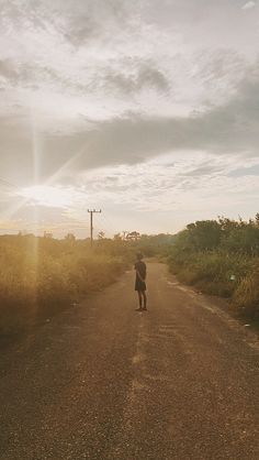
[[35, 185], [23, 188], [20, 196], [31, 205], [46, 206], [50, 208], [67, 208], [72, 204], [71, 190], [50, 185]]

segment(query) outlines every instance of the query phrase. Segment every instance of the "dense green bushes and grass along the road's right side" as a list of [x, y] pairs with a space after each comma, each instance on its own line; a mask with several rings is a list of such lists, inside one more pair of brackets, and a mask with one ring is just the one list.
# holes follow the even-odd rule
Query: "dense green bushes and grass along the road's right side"
[[169, 265], [180, 281], [230, 297], [238, 313], [259, 313], [259, 215], [202, 220], [178, 233]]

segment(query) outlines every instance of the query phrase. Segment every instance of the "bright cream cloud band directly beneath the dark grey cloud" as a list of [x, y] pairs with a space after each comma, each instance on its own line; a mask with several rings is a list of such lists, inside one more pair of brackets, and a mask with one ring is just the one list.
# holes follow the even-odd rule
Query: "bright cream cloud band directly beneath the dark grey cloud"
[[[209, 156], [209, 157], [207, 157]], [[124, 206], [135, 210], [180, 209], [198, 200], [200, 204], [218, 195], [239, 194], [258, 189], [257, 177], [244, 177], [236, 183], [230, 174], [236, 166], [240, 167], [238, 156], [218, 158], [205, 153], [192, 152], [189, 156], [176, 155], [173, 167], [168, 167], [170, 155], [149, 160], [145, 164], [119, 165], [81, 172], [77, 184], [56, 187], [24, 188], [22, 197], [31, 197], [30, 205], [45, 204], [45, 207], [60, 205], [67, 215], [85, 215], [88, 206], [105, 209], [109, 206]], [[169, 163], [170, 164], [170, 163]]]

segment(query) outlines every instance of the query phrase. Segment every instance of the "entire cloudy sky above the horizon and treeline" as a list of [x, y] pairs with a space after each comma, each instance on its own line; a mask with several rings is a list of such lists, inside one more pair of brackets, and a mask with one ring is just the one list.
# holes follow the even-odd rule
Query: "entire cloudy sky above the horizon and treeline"
[[0, 0], [0, 233], [252, 218], [258, 41], [258, 0]]

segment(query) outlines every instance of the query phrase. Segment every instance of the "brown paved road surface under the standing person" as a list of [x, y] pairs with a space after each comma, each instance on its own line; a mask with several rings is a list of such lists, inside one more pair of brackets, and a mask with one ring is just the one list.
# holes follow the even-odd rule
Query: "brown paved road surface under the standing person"
[[5, 350], [1, 460], [259, 459], [259, 346], [148, 264]]

